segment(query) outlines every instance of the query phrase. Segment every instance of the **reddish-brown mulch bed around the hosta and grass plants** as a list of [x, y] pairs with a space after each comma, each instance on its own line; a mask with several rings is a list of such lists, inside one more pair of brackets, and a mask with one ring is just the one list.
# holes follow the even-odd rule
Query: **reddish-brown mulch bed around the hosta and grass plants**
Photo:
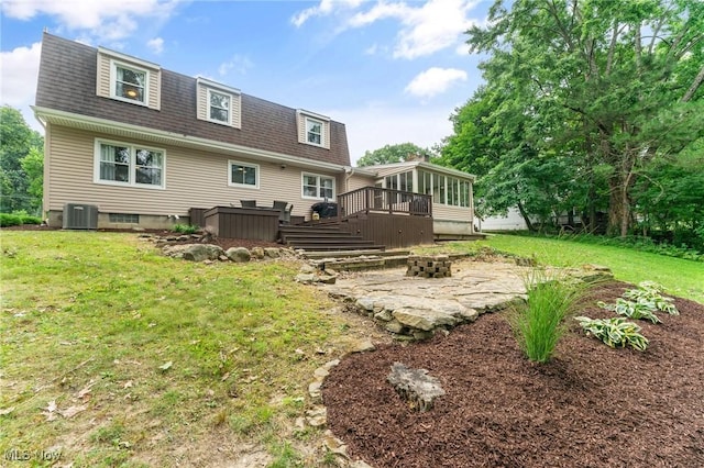
[[[610, 283], [580, 315], [629, 287]], [[576, 322], [557, 357], [530, 364], [504, 313], [409, 346], [382, 345], [343, 359], [322, 388], [328, 426], [353, 458], [383, 467], [704, 466], [704, 305], [638, 321], [645, 353], [612, 349]], [[400, 361], [425, 368], [447, 394], [426, 413], [386, 381]]]

